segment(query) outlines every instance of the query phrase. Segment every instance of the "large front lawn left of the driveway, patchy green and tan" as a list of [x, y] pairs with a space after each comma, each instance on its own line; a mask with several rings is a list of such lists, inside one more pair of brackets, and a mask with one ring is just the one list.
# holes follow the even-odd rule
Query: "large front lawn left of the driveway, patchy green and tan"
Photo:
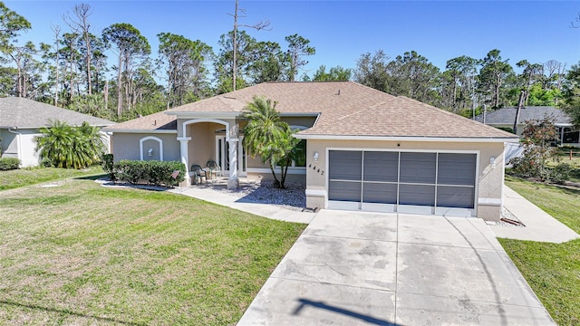
[[0, 324], [232, 325], [304, 227], [91, 180], [0, 191]]

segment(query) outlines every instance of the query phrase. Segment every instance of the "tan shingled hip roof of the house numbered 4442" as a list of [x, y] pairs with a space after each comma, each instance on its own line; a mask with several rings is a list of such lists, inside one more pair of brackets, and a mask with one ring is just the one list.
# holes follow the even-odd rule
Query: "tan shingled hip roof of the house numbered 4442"
[[[517, 138], [420, 101], [392, 96], [356, 82], [266, 82], [160, 113], [173, 119], [211, 113], [236, 115], [256, 95], [275, 101], [276, 110], [283, 115], [319, 114], [314, 127], [300, 131], [300, 137]], [[147, 126], [152, 129], [152, 119], [147, 116], [109, 129]]]

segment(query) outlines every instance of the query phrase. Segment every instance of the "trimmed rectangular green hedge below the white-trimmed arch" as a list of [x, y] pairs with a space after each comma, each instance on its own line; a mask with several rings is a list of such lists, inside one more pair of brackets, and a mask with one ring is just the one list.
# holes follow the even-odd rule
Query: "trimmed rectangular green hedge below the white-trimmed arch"
[[[177, 177], [171, 177], [179, 171]], [[185, 165], [176, 161], [137, 161], [122, 159], [113, 165], [115, 180], [136, 184], [146, 181], [155, 186], [177, 186], [185, 180]]]

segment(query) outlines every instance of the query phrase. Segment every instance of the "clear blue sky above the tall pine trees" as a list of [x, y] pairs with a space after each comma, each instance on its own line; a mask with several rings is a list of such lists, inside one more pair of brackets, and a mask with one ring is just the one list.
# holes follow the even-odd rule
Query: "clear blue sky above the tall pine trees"
[[[32, 29], [20, 40], [52, 43], [51, 25], [63, 23], [82, 1], [5, 1]], [[228, 1], [84, 1], [92, 6], [92, 33], [115, 23], [140, 30], [157, 53], [157, 34], [181, 34], [201, 40], [218, 53], [221, 34], [233, 29], [234, 0]], [[580, 28], [570, 25], [580, 13], [578, 1], [239, 1], [246, 17], [239, 24], [269, 21], [270, 31], [246, 29], [258, 41], [285, 49], [285, 36], [310, 40], [316, 54], [303, 72], [312, 75], [324, 64], [354, 68], [362, 53], [382, 50], [394, 59], [416, 51], [441, 71], [452, 58], [484, 58], [492, 49], [516, 63], [580, 61]], [[580, 23], [578, 23], [580, 25]], [[111, 53], [111, 57], [114, 54]]]

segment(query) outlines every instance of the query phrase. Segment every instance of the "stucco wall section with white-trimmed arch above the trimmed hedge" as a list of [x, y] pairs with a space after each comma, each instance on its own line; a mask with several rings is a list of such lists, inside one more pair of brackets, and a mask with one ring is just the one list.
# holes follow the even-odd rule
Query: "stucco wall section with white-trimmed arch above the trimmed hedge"
[[[121, 159], [140, 159], [140, 140], [148, 137], [155, 137], [162, 141], [163, 160], [179, 161], [179, 141], [176, 134], [161, 133], [122, 133], [115, 132], [112, 134], [111, 151], [115, 162]], [[147, 154], [148, 149], [153, 149], [153, 157]], [[147, 139], [143, 141], [143, 159], [159, 159], [160, 144], [158, 141]]]

